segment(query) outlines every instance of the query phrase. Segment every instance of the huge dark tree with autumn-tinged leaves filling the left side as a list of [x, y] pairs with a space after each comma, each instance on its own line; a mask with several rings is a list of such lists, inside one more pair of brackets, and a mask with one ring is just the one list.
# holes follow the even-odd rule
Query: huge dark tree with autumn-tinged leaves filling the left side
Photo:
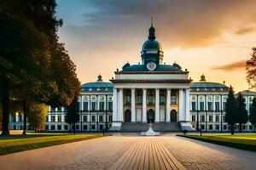
[[[65, 106], [79, 95], [75, 65], [58, 42], [57, 29], [62, 20], [56, 20], [55, 6], [55, 0], [0, 2], [2, 135], [9, 135], [10, 94], [24, 104], [24, 133], [31, 101]], [[12, 93], [15, 89], [19, 92]]]

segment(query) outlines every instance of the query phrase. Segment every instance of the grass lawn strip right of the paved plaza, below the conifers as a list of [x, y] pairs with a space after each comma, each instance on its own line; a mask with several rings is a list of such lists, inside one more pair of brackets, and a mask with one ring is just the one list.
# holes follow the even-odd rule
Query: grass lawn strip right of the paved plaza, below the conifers
[[213, 144], [221, 144], [242, 150], [256, 151], [256, 134], [203, 134], [180, 135], [189, 139], [197, 139]]

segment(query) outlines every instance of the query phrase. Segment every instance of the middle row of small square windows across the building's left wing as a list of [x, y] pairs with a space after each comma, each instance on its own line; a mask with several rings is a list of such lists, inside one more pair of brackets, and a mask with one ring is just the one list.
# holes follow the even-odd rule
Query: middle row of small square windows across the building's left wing
[[[90, 120], [88, 119], [89, 116], [82, 116], [83, 117], [83, 122], [97, 122], [96, 120], [96, 115], [91, 115], [90, 116]], [[104, 117], [103, 115], [99, 115], [98, 116], [98, 122], [104, 122]], [[61, 120], [61, 116], [57, 116], [57, 120], [55, 120], [55, 116], [50, 116], [50, 120], [49, 120], [49, 116], [46, 116], [46, 122], [64, 122], [66, 119], [66, 116], [64, 116], [64, 120]], [[112, 122], [112, 115], [108, 116], [108, 122]]]

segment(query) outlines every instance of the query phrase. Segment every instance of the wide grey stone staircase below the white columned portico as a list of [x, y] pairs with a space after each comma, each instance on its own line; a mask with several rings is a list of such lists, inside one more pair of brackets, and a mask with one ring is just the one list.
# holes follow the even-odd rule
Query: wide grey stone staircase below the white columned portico
[[[159, 122], [152, 125], [155, 132], [181, 132], [178, 122]], [[123, 122], [121, 132], [145, 132], [148, 131], [148, 123]]]

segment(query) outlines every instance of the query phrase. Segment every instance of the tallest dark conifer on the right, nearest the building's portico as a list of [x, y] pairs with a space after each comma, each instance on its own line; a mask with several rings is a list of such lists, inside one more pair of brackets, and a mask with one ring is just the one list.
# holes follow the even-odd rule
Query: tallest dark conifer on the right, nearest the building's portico
[[228, 99], [226, 102], [225, 112], [226, 112], [225, 122], [228, 122], [230, 124], [230, 133], [233, 135], [234, 126], [237, 122], [237, 118], [236, 118], [236, 99], [235, 99], [234, 90], [232, 86], [230, 86], [230, 91], [229, 91]]

